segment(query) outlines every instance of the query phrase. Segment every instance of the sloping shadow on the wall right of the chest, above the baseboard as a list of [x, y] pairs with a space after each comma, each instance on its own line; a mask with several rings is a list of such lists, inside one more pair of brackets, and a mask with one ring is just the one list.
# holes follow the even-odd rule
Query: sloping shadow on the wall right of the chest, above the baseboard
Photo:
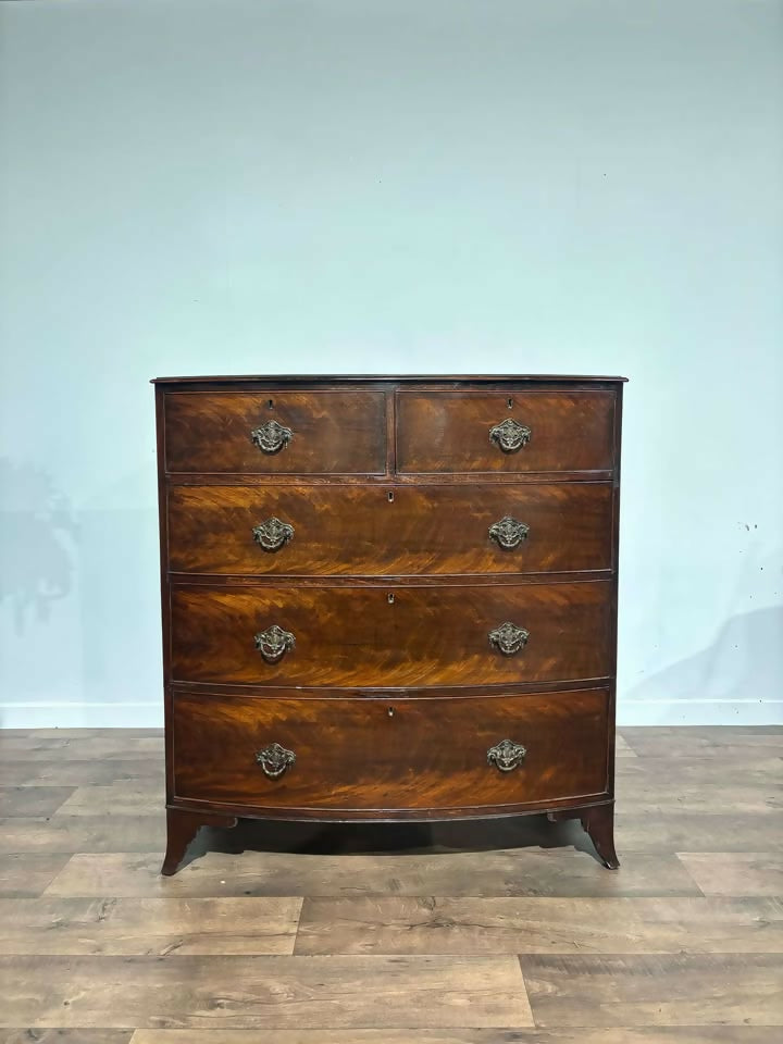
[[[753, 684], [749, 683], [753, 679]], [[627, 689], [626, 709], [635, 701], [753, 701], [783, 699], [783, 606], [731, 617], [716, 641], [697, 652], [658, 671]]]

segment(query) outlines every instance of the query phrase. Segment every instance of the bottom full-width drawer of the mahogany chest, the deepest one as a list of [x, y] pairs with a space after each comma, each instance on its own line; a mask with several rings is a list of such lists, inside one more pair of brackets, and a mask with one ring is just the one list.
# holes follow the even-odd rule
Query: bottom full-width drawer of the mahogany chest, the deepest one
[[[609, 694], [403, 699], [174, 697], [176, 798], [257, 809], [459, 809], [556, 803], [607, 787]], [[508, 739], [501, 771], [490, 748]], [[278, 744], [270, 778], [257, 754]], [[513, 755], [517, 755], [514, 757]], [[502, 761], [502, 751], [499, 751]]]

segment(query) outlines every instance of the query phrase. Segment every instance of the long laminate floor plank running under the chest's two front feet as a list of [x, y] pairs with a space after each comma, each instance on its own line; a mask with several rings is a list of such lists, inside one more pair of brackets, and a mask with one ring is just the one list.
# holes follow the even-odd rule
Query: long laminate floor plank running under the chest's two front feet
[[[403, 838], [374, 852], [357, 852], [356, 828], [328, 826], [301, 833], [284, 823], [240, 823], [174, 878], [159, 875], [162, 844], [148, 853], [77, 853], [57, 875], [47, 895], [64, 896], [210, 896], [210, 895], [452, 895], [452, 896], [698, 896], [696, 882], [670, 853], [625, 853], [621, 873], [607, 873], [585, 850], [572, 847], [581, 830], [552, 829], [546, 821], [514, 821], [513, 836], [493, 831], [476, 850], [452, 850], [437, 844], [438, 832], [419, 833], [419, 847]], [[439, 824], [438, 824], [439, 825]], [[481, 825], [470, 823], [471, 832]], [[497, 828], [497, 823], [493, 824]], [[245, 830], [243, 831], [243, 828]], [[241, 833], [240, 833], [241, 831]], [[387, 833], [387, 832], [386, 832]], [[286, 850], [275, 838], [287, 837]], [[464, 832], [461, 834], [465, 835]], [[487, 835], [488, 836], [488, 835]], [[200, 838], [201, 840], [201, 838]], [[340, 843], [341, 842], [341, 843]], [[279, 843], [279, 842], [278, 842]], [[330, 845], [333, 850], [330, 853]], [[549, 847], [544, 847], [549, 846]], [[222, 848], [223, 850], [216, 850]], [[237, 848], [240, 854], [234, 854]], [[324, 854], [323, 849], [327, 852]]]

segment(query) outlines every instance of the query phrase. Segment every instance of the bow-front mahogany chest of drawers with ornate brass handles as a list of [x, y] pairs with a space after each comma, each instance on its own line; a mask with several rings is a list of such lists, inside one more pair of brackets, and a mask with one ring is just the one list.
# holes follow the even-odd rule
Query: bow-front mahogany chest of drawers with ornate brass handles
[[238, 817], [612, 838], [620, 377], [156, 384], [167, 848]]

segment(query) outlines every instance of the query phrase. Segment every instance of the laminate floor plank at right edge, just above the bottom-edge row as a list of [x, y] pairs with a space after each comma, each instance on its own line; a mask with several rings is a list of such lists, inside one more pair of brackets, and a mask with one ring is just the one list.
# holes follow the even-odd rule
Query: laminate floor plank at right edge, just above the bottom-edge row
[[780, 955], [525, 955], [520, 965], [538, 1027], [783, 1027]]

